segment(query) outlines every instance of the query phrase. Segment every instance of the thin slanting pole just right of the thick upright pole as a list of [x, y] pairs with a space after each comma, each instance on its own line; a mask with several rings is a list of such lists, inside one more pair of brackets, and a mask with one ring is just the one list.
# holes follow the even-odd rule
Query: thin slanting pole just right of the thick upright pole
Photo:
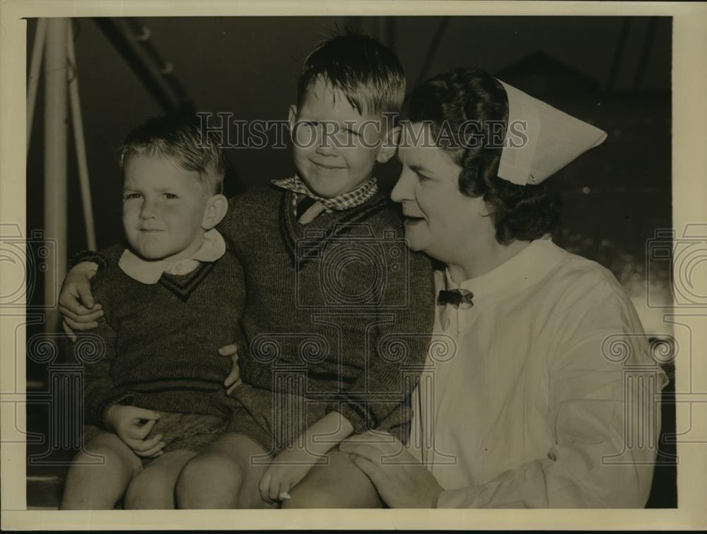
[[69, 51], [69, 105], [71, 107], [71, 129], [74, 131], [76, 160], [78, 162], [78, 182], [81, 185], [81, 203], [83, 204], [83, 224], [86, 227], [86, 244], [95, 250], [95, 226], [93, 223], [93, 205], [90, 200], [90, 180], [88, 179], [88, 159], [86, 158], [86, 138], [83, 136], [81, 119], [81, 101], [78, 98], [78, 67], [74, 50], [74, 35], [71, 23], [66, 25], [66, 45]]

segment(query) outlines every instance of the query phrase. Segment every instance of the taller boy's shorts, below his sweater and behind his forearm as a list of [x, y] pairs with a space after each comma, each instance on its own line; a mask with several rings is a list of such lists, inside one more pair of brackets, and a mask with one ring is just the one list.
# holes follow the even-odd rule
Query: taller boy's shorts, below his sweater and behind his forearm
[[[329, 404], [329, 401], [315, 401], [292, 393], [274, 393], [249, 384], [235, 388], [230, 402], [233, 403], [230, 432], [245, 434], [257, 441], [271, 456], [296, 445], [296, 440], [308, 427], [327, 415]], [[377, 429], [390, 432], [405, 442], [410, 419], [409, 408], [397, 408]]]

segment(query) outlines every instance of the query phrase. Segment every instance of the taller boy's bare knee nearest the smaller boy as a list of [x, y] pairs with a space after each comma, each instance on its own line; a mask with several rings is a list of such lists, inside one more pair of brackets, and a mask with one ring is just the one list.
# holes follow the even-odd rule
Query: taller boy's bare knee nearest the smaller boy
[[185, 465], [177, 482], [180, 509], [271, 508], [258, 491], [267, 464], [262, 446], [243, 434], [224, 434]]

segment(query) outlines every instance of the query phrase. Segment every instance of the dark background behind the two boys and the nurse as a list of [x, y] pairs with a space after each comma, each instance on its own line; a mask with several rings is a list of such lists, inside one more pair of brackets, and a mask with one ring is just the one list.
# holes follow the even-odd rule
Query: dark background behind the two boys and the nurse
[[[28, 20], [28, 64], [36, 22]], [[73, 23], [100, 248], [122, 238], [117, 147], [130, 129], [165, 109], [109, 40], [105, 24], [90, 18]], [[409, 90], [446, 69], [476, 65], [595, 124], [607, 131], [607, 141], [551, 179], [563, 199], [556, 242], [612, 270], [650, 336], [670, 334], [645, 304], [649, 289], [668, 302], [669, 273], [653, 268], [649, 277], [645, 249], [655, 230], [671, 226], [671, 18], [164, 17], [136, 23], [149, 28], [151, 43], [197, 109], [232, 112], [236, 119], [286, 119], [306, 54], [350, 28], [395, 50]], [[43, 227], [43, 99], [40, 80], [27, 167], [28, 231]], [[70, 141], [69, 255], [86, 248], [74, 150]], [[234, 148], [227, 156], [227, 193], [293, 174], [288, 149]], [[390, 189], [398, 173], [393, 161], [378, 176]], [[35, 304], [41, 289], [40, 283], [30, 295]], [[32, 328], [42, 327], [28, 327], [28, 338]], [[672, 367], [666, 370], [672, 377]], [[46, 388], [47, 365], [29, 362], [28, 379]], [[30, 407], [30, 427], [46, 426], [45, 411]], [[664, 405], [663, 418], [664, 433], [674, 432], [672, 406]], [[674, 506], [677, 499], [674, 444], [662, 449], [667, 464], [656, 470], [649, 506]]]

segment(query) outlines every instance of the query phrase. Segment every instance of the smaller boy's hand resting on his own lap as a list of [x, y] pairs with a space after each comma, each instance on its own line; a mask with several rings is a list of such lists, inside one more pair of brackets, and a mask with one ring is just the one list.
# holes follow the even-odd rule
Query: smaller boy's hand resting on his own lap
[[[115, 431], [117, 436], [129, 446], [138, 456], [145, 458], [159, 456], [166, 445], [161, 441], [162, 434], [157, 434], [150, 439], [145, 437], [150, 433], [152, 427], [160, 418], [160, 414], [152, 410], [137, 408], [136, 406], [112, 405], [106, 415], [105, 420]], [[147, 422], [141, 424], [142, 421]]]

